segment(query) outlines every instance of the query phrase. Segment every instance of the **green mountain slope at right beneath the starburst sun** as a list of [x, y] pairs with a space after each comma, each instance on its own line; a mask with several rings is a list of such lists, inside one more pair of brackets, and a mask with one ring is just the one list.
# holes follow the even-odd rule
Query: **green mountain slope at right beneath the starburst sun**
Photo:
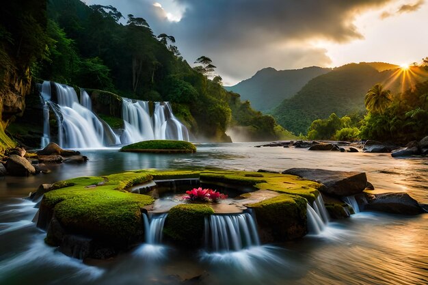
[[[392, 69], [385, 70], [386, 67]], [[418, 75], [410, 76], [410, 73]], [[403, 89], [402, 85], [403, 82], [409, 84], [410, 79], [413, 83], [421, 82], [428, 79], [428, 74], [417, 67], [404, 71], [383, 63], [347, 64], [315, 77], [295, 96], [283, 100], [271, 114], [289, 131], [306, 134], [313, 120], [327, 118], [331, 113], [345, 116], [364, 111], [364, 96], [376, 83], [383, 83], [397, 94], [408, 88]]]

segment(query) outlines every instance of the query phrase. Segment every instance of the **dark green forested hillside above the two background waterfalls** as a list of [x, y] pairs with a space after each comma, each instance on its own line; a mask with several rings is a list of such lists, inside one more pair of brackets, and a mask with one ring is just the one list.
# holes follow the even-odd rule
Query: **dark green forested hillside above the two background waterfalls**
[[[211, 59], [202, 55], [196, 59], [200, 66], [191, 68], [174, 46], [174, 36], [155, 36], [144, 18], [129, 14], [123, 25], [120, 21], [125, 17], [116, 8], [88, 6], [79, 0], [49, 1], [47, 12], [42, 12], [42, 6], [46, 8], [40, 4], [33, 9], [42, 15], [39, 18], [43, 21], [36, 21], [44, 23], [40, 29], [36, 23], [37, 29], [31, 31], [18, 26], [27, 31], [25, 36], [31, 36], [29, 44], [34, 44], [32, 75], [85, 88], [94, 101], [94, 111], [113, 128], [121, 126], [111, 118], [121, 116], [122, 105], [115, 99], [119, 95], [170, 101], [193, 135], [212, 141], [228, 141], [225, 131], [231, 124], [254, 128], [257, 137], [268, 135], [265, 139], [280, 139], [286, 134], [275, 120], [250, 107], [234, 113], [241, 104], [239, 96], [224, 90]], [[23, 14], [17, 11], [11, 15]], [[16, 33], [20, 39], [23, 32], [12, 28], [4, 35], [0, 29], [0, 36]], [[16, 51], [14, 44], [4, 53]], [[5, 59], [3, 65], [7, 62]], [[252, 117], [254, 120], [248, 120]]]

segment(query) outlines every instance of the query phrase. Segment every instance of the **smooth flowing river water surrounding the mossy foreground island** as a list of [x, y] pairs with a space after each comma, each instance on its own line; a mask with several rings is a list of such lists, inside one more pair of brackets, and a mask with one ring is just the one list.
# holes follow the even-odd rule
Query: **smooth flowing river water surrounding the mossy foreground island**
[[363, 171], [376, 191], [406, 191], [428, 204], [427, 159], [254, 145], [201, 144], [196, 154], [81, 150], [90, 158], [84, 165], [57, 165], [49, 174], [1, 179], [0, 284], [428, 284], [428, 213], [405, 217], [363, 211], [325, 224], [328, 217], [316, 202], [313, 212], [324, 230], [297, 241], [245, 243], [228, 252], [183, 252], [146, 243], [113, 260], [83, 263], [44, 244], [44, 232], [31, 223], [34, 203], [22, 199], [43, 182], [126, 169], [312, 167]]

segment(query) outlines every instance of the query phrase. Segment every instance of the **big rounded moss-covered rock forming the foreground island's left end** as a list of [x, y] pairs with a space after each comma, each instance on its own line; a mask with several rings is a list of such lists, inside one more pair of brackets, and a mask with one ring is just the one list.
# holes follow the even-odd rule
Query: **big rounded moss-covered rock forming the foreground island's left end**
[[[70, 237], [70, 234], [85, 236], [85, 241], [91, 240], [88, 256], [109, 257], [100, 254], [97, 248], [111, 254], [129, 249], [133, 243], [143, 240], [143, 207], [152, 204], [154, 199], [126, 192], [125, 189], [151, 179], [147, 173], [125, 172], [56, 182], [44, 193], [38, 227], [48, 230], [47, 243], [59, 245], [65, 252], [72, 252], [70, 246], [81, 247], [64, 245], [65, 240], [81, 241]], [[55, 223], [51, 224], [53, 218]]]

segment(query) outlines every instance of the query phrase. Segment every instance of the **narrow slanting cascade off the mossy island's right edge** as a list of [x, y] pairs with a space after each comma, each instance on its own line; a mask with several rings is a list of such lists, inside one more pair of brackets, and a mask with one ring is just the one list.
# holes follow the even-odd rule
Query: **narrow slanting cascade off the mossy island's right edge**
[[328, 213], [325, 208], [323, 198], [318, 195], [317, 199], [310, 204], [306, 204], [306, 218], [308, 219], [308, 232], [310, 234], [320, 234], [328, 223]]

